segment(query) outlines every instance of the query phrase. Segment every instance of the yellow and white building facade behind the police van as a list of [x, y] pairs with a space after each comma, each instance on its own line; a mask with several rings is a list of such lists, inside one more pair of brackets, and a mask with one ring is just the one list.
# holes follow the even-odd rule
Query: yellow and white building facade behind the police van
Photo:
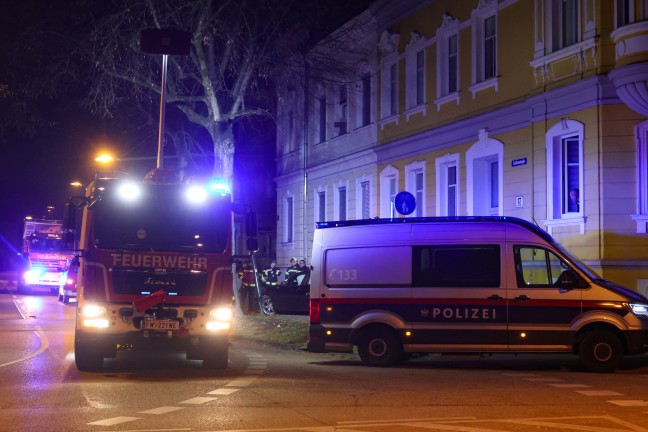
[[[306, 164], [312, 213], [305, 214], [302, 249], [312, 238], [317, 185], [326, 185], [330, 196], [328, 219], [336, 216], [335, 185], [348, 182], [348, 216], [355, 218], [353, 178], [371, 177], [372, 217], [384, 217], [393, 199], [390, 179], [403, 191], [423, 172], [424, 216], [454, 212], [449, 199], [456, 190], [456, 215], [533, 221], [604, 277], [643, 289], [648, 161], [641, 154], [648, 138], [637, 127], [646, 121], [648, 101], [632, 85], [640, 94], [648, 82], [648, 47], [641, 44], [648, 38], [648, 6], [634, 2], [630, 22], [619, 22], [624, 2], [570, 4], [577, 10], [575, 32], [563, 35], [555, 0], [377, 1], [369, 11], [376, 23], [376, 97], [365, 129], [371, 138], [360, 144], [350, 132], [337, 138], [334, 150], [314, 150], [317, 157]], [[492, 16], [496, 67], [485, 77], [487, 36], [480, 35]], [[452, 35], [456, 89], [448, 72]], [[412, 103], [419, 53], [423, 100]], [[355, 152], [363, 157], [351, 157]], [[570, 185], [578, 186], [576, 207], [570, 207]]]

